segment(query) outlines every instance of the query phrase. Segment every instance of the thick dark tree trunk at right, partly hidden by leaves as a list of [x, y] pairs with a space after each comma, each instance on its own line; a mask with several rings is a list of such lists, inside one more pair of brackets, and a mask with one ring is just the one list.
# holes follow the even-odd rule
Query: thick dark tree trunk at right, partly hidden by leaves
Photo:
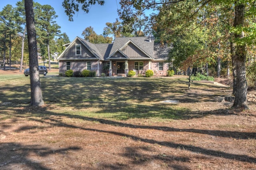
[[[245, 5], [242, 2], [235, 3], [234, 27], [244, 26]], [[235, 38], [244, 38], [244, 33], [234, 34]], [[232, 108], [249, 109], [247, 104], [247, 81], [246, 81], [246, 44], [236, 44], [236, 54], [234, 61], [236, 63], [236, 93]]]

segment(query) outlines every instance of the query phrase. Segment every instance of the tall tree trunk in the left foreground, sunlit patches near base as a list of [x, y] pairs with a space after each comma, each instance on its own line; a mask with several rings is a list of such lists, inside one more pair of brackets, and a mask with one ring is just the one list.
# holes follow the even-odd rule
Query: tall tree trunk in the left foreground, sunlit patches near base
[[28, 53], [30, 68], [30, 106], [44, 105], [38, 69], [36, 29], [34, 20], [33, 0], [25, 0], [26, 24], [28, 32]]

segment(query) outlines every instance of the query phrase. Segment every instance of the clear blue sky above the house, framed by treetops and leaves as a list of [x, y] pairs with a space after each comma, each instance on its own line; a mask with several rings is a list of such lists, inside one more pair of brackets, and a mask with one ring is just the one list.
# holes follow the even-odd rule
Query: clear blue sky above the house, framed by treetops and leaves
[[[0, 10], [7, 4], [16, 6], [16, 2], [20, 0], [0, 0]], [[106, 0], [104, 6], [95, 4], [91, 6], [90, 11], [86, 14], [80, 10], [73, 17], [74, 21], [68, 21], [68, 16], [62, 7], [63, 0], [34, 0], [42, 5], [48, 4], [52, 6], [58, 15], [56, 18], [57, 24], [61, 27], [61, 32], [68, 35], [70, 41], [73, 41], [76, 36], [84, 38], [81, 34], [86, 27], [92, 26], [97, 34], [103, 33], [103, 28], [106, 27], [106, 22], [115, 22], [118, 17], [117, 9], [120, 8], [120, 0]]]

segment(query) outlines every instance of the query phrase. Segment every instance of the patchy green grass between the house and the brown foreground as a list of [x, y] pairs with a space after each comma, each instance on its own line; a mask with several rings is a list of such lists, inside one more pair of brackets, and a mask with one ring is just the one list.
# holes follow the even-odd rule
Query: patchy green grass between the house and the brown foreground
[[[223, 94], [223, 87], [196, 85], [193, 90], [205, 93], [192, 94], [188, 91], [185, 78], [98, 78], [98, 77], [45, 77], [40, 75], [44, 102], [47, 107], [27, 109], [30, 102], [30, 79], [22, 74], [0, 75], [0, 103], [6, 111], [2, 119], [10, 115], [35, 115], [48, 117], [60, 115], [77, 119], [150, 119], [166, 121], [185, 119], [191, 115], [189, 108], [182, 105], [162, 103], [165, 100], [178, 100], [180, 103], [213, 101], [214, 95], [208, 90]], [[20, 109], [25, 108], [25, 109]], [[14, 112], [14, 113], [13, 113]], [[10, 116], [9, 115], [9, 116]], [[1, 118], [0, 118], [1, 120]]]

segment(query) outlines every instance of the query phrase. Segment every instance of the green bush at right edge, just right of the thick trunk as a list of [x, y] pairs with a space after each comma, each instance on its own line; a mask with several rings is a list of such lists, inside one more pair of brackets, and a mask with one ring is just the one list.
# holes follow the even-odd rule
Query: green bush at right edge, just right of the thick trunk
[[247, 67], [246, 79], [249, 89], [256, 89], [256, 61]]

